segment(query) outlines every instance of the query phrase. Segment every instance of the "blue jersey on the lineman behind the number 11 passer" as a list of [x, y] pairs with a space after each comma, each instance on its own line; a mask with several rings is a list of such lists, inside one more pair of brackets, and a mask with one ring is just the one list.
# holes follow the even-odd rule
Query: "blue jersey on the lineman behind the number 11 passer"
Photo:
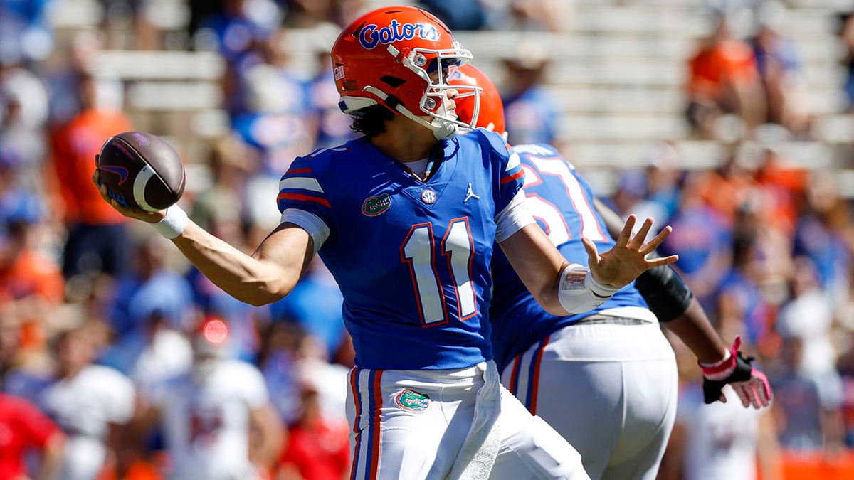
[[[614, 240], [594, 208], [593, 190], [575, 167], [546, 144], [518, 145], [513, 151], [522, 163], [528, 208], [564, 258], [588, 265], [582, 237], [593, 240], [600, 252], [611, 249]], [[492, 274], [495, 296], [489, 313], [499, 369], [534, 342], [591, 313], [614, 307], [646, 308], [646, 301], [632, 283], [592, 312], [556, 317], [530, 295], [500, 249], [493, 256]]]

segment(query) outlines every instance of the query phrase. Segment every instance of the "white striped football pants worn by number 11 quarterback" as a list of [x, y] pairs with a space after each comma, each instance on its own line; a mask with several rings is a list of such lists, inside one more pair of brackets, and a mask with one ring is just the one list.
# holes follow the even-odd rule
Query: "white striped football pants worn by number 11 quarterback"
[[[448, 477], [465, 451], [487, 365], [495, 368], [489, 362], [462, 370], [352, 369], [347, 402], [353, 427], [350, 479]], [[576, 450], [501, 386], [498, 372], [493, 375], [494, 405], [500, 404], [494, 468], [468, 471], [466, 480], [588, 480]]]

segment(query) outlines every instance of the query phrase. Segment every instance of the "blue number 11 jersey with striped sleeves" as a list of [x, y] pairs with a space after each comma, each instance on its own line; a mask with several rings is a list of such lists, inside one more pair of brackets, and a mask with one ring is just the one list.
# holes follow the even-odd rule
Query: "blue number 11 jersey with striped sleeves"
[[362, 368], [492, 359], [494, 217], [522, 188], [522, 169], [487, 131], [446, 140], [433, 158], [442, 163], [422, 182], [357, 138], [297, 158], [282, 179], [279, 210], [314, 214], [330, 229], [319, 255], [341, 287]]

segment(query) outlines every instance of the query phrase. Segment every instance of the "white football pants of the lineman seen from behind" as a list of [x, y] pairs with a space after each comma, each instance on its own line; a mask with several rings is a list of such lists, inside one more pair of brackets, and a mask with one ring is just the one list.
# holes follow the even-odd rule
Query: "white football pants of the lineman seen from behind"
[[676, 419], [676, 359], [658, 322], [570, 325], [501, 382], [582, 455], [594, 480], [654, 480]]

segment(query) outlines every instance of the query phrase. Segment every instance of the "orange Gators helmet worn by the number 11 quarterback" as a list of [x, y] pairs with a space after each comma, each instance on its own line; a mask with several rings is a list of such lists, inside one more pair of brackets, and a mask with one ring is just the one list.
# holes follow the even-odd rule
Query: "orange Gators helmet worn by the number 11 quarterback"
[[[453, 39], [442, 20], [422, 9], [383, 7], [360, 16], [338, 36], [331, 59], [341, 95], [338, 106], [345, 114], [383, 105], [439, 139], [453, 137], [459, 126], [471, 127], [444, 102], [453, 88], [447, 85], [447, 68], [471, 61], [471, 51]], [[477, 87], [464, 90], [477, 96]]]

